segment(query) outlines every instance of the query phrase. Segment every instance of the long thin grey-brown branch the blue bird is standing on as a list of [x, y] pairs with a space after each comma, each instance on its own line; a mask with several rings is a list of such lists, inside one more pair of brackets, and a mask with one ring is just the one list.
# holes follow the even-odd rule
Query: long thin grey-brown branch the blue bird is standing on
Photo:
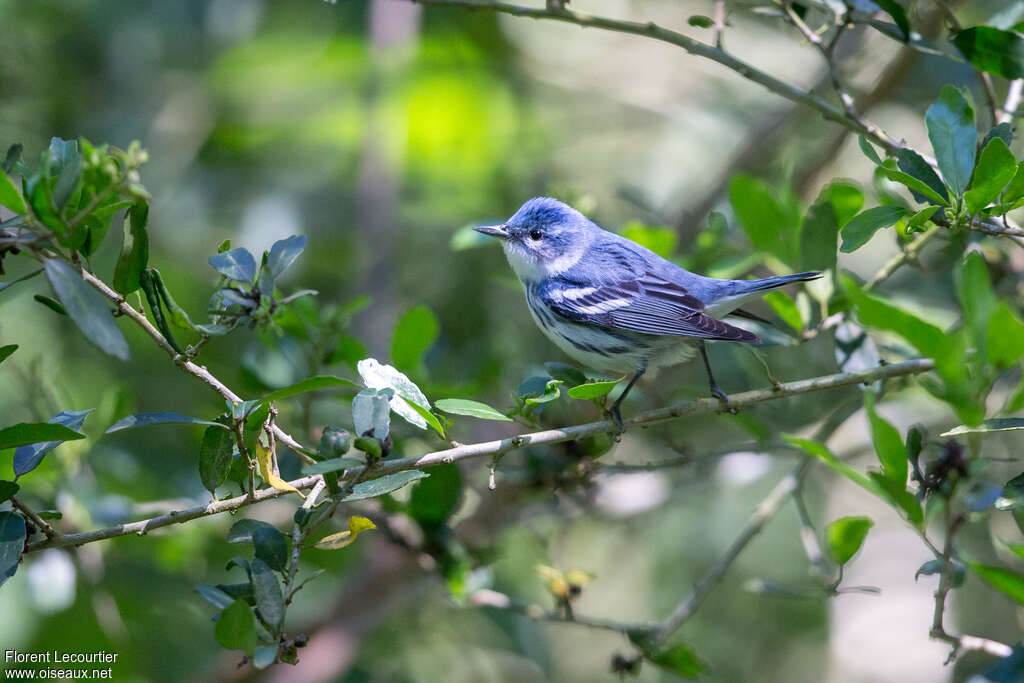
[[[682, 402], [676, 405], [659, 408], [653, 411], [641, 413], [634, 418], [626, 420], [626, 425], [628, 427], [642, 427], [645, 425], [668, 422], [670, 420], [678, 420], [679, 418], [687, 416], [726, 413], [745, 408], [748, 405], [754, 405], [756, 403], [762, 403], [787, 396], [796, 396], [815, 391], [824, 391], [826, 389], [835, 389], [837, 387], [851, 386], [855, 384], [871, 384], [879, 380], [892, 379], [895, 377], [919, 375], [921, 373], [927, 373], [934, 368], [935, 362], [933, 360], [929, 358], [916, 358], [913, 360], [904, 360], [902, 362], [880, 366], [879, 368], [872, 368], [870, 370], [856, 373], [838, 373], [836, 375], [825, 375], [807, 380], [786, 382], [784, 384], [780, 384], [778, 387], [768, 387], [765, 389], [745, 391], [743, 393], [737, 393], [730, 396], [728, 405], [723, 405], [717, 398], [697, 398], [695, 400]], [[432, 467], [435, 465], [449, 464], [473, 458], [493, 457], [527, 445], [542, 445], [546, 443], [573, 441], [592, 434], [605, 433], [614, 431], [615, 429], [616, 426], [612, 421], [601, 420], [599, 422], [573, 425], [561, 429], [548, 429], [527, 434], [518, 434], [516, 436], [510, 436], [509, 438], [500, 440], [463, 444], [446, 451], [435, 451], [423, 456], [399, 458], [396, 460], [377, 463], [373, 466], [373, 474], [374, 476], [381, 476], [384, 474], [401, 472], [403, 470]], [[365, 466], [353, 467], [345, 470], [343, 477], [345, 480], [353, 480], [354, 478], [354, 480], [357, 481], [361, 480], [361, 478], [366, 476], [366, 472], [367, 468]], [[300, 490], [304, 490], [314, 485], [318, 480], [319, 475], [311, 475], [289, 481], [289, 483]], [[250, 499], [249, 496], [239, 496], [223, 501], [215, 501], [208, 505], [200, 505], [194, 508], [188, 508], [187, 510], [179, 512], [171, 512], [152, 519], [143, 519], [137, 522], [119, 524], [117, 526], [96, 529], [93, 531], [85, 531], [82, 533], [66, 533], [54, 539], [47, 539], [45, 541], [30, 544], [26, 549], [26, 552], [42, 550], [43, 548], [81, 546], [87, 543], [113, 539], [115, 537], [125, 536], [128, 533], [143, 535], [154, 528], [169, 526], [171, 524], [179, 524], [181, 522], [191, 521], [193, 519], [197, 519], [199, 517], [208, 517], [222, 512], [238, 510], [253, 503], [280, 498], [287, 493], [288, 492], [286, 490], [278, 490], [276, 488], [260, 488], [256, 492], [252, 499]]]

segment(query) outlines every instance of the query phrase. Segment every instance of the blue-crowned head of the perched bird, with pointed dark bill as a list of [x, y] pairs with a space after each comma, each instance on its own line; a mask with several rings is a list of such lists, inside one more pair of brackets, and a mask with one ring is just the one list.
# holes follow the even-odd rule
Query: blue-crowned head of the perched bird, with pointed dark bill
[[550, 197], [535, 197], [501, 225], [475, 229], [502, 241], [519, 280], [538, 282], [579, 261], [598, 228], [572, 207]]

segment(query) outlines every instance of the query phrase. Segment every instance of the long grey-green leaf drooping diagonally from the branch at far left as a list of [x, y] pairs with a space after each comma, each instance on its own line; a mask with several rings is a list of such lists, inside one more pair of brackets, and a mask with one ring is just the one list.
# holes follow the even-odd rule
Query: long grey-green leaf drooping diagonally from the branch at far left
[[68, 315], [85, 338], [100, 350], [127, 360], [128, 342], [114, 322], [106, 300], [89, 287], [82, 276], [63, 261], [48, 258], [43, 262], [46, 276]]

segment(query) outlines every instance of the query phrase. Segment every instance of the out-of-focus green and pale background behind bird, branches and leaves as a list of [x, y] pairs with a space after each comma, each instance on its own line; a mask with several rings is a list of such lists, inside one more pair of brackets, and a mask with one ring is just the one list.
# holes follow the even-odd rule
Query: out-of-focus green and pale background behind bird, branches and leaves
[[[965, 2], [958, 11], [981, 22], [1007, 5]], [[691, 14], [710, 13], [711, 2], [602, 0], [577, 8], [711, 40], [686, 25]], [[920, 30], [939, 32], [934, 8], [919, 9]], [[736, 10], [730, 24], [727, 47], [742, 58], [804, 87], [827, 82], [817, 55], [777, 22]], [[202, 362], [244, 396], [316, 371], [353, 376], [346, 359], [362, 356], [360, 344], [386, 361], [395, 321], [426, 306], [439, 337], [422, 368], [406, 370], [427, 395], [511, 403], [544, 361], [565, 358], [534, 327], [500, 250], [455, 249], [453, 238], [467, 247], [460, 228], [504, 219], [536, 195], [563, 199], [609, 229], [669, 228], [662, 233], [673, 236], [681, 263], [739, 275], [765, 270], [745, 258], [752, 249], [728, 203], [737, 173], [767, 180], [795, 217], [831, 178], [871, 191], [871, 165], [838, 126], [717, 65], [635, 37], [484, 11], [424, 11], [397, 0], [0, 0], [0, 143], [24, 142], [35, 159], [53, 135], [119, 146], [141, 140], [152, 156], [142, 174], [154, 195], [151, 264], [194, 316], [203, 317], [216, 285], [206, 259], [222, 240], [259, 252], [288, 234], [308, 237], [285, 286], [318, 290], [322, 309], [347, 305], [343, 336], [316, 354], [292, 336], [215, 339]], [[862, 105], [913, 144], [927, 140], [922, 111], [943, 83], [974, 87], [963, 63], [903, 52], [863, 27], [847, 38], [846, 69]], [[722, 214], [710, 227], [712, 209]], [[114, 242], [97, 255], [99, 273], [113, 271]], [[840, 264], [869, 274], [894, 250], [880, 238]], [[929, 263], [894, 278], [888, 291], [919, 307], [948, 298], [948, 257], [930, 254]], [[5, 265], [11, 278], [26, 267]], [[8, 423], [96, 411], [85, 425], [88, 440], [63, 444], [33, 473], [32, 499], [80, 528], [208, 500], [196, 475], [198, 428], [100, 435], [129, 413], [212, 417], [220, 400], [127, 326], [132, 361], [103, 355], [33, 301], [39, 286], [0, 297], [0, 341], [22, 347], [0, 373], [0, 411]], [[767, 356], [785, 381], [835, 372], [833, 347], [822, 335], [770, 347]], [[712, 357], [727, 391], [766, 384], [743, 349], [716, 345]], [[317, 358], [329, 361], [314, 368]], [[641, 384], [626, 412], [705, 393], [694, 364]], [[664, 617], [797, 462], [757, 439], [806, 431], [850, 399], [859, 400], [857, 389], [679, 421], [627, 434], [601, 461], [689, 457], [672, 469], [581, 474], [582, 456], [569, 444], [506, 458], [489, 492], [486, 463], [469, 463], [454, 527], [474, 559], [485, 560], [473, 581], [489, 574], [496, 590], [550, 604], [535, 565], [580, 568], [595, 579], [578, 612]], [[282, 422], [308, 442], [323, 425], [349, 421], [341, 394], [307, 408], [288, 408]], [[912, 388], [883, 412], [900, 427], [954, 420]], [[544, 419], [556, 426], [597, 416], [562, 401]], [[864, 454], [864, 425], [855, 416], [833, 450]], [[453, 436], [471, 442], [514, 431], [463, 420]], [[400, 455], [442, 445], [402, 434]], [[999, 453], [1020, 441], [993, 436], [991, 443]], [[295, 462], [282, 466], [286, 476], [298, 472]], [[975, 655], [943, 668], [946, 646], [928, 639], [935, 579], [913, 580], [929, 553], [912, 531], [824, 471], [813, 470], [806, 489], [819, 528], [845, 514], [876, 518], [847, 582], [882, 595], [828, 600], [750, 590], [752, 580], [811, 584], [791, 505], [679, 634], [709, 664], [708, 680], [942, 681], [977, 670]], [[243, 514], [285, 528], [293, 509], [281, 501]], [[115, 679], [124, 681], [249, 677], [236, 668], [238, 653], [215, 643], [214, 610], [193, 590], [229, 578], [223, 566], [237, 548], [223, 533], [231, 521], [29, 556], [0, 590], [0, 648], [116, 651]], [[394, 525], [346, 552], [307, 553], [305, 570], [329, 569], [289, 612], [289, 630], [307, 632], [309, 646], [297, 668], [280, 665], [254, 678], [614, 680], [612, 654], [630, 651], [622, 636], [457, 606], [433, 558], [404, 548], [401, 520]], [[1010, 529], [971, 528], [965, 545], [991, 553], [992, 539]], [[953, 623], [1017, 640], [1019, 614], [973, 582], [957, 592]], [[640, 680], [675, 679], [646, 666]]]

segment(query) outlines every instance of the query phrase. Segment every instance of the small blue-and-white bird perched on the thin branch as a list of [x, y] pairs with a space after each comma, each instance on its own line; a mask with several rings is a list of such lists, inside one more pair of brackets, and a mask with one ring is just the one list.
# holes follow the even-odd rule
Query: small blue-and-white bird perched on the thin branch
[[527, 201], [501, 225], [475, 229], [502, 241], [534, 321], [551, 341], [587, 367], [632, 374], [609, 411], [620, 428], [620, 407], [636, 381], [645, 372], [688, 360], [697, 350], [712, 394], [727, 402], [705, 341], [756, 344], [760, 339], [719, 318], [759, 319], [739, 306], [768, 290], [820, 276], [705, 278], [549, 197]]

